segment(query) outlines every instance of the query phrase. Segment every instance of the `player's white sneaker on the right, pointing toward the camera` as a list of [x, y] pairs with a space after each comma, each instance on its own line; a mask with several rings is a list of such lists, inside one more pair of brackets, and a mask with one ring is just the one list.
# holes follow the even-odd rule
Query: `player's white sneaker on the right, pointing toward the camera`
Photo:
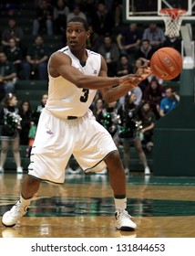
[[134, 231], [137, 228], [136, 223], [131, 220], [127, 210], [115, 212], [115, 227], [123, 231]]

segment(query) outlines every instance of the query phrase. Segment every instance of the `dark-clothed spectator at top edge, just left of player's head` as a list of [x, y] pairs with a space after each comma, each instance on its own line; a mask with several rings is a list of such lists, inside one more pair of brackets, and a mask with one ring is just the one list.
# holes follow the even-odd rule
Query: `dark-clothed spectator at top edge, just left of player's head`
[[69, 14], [69, 7], [64, 0], [57, 0], [54, 7], [54, 30], [56, 35], [64, 33], [67, 27], [67, 15]]

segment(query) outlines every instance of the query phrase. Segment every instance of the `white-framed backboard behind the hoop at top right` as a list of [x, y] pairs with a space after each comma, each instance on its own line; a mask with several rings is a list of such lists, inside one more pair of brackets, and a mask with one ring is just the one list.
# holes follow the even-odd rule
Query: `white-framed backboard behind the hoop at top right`
[[187, 12], [184, 23], [195, 23], [195, 0], [123, 0], [126, 22], [163, 22], [159, 11], [162, 8], [181, 8]]

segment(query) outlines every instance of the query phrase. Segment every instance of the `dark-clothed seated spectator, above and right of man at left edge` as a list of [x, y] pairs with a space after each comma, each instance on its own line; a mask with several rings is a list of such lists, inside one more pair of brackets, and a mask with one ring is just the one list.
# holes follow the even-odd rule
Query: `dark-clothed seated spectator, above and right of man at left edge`
[[15, 39], [9, 40], [9, 47], [5, 48], [7, 59], [15, 66], [17, 77], [20, 78], [22, 71], [23, 54], [19, 47], [16, 46]]

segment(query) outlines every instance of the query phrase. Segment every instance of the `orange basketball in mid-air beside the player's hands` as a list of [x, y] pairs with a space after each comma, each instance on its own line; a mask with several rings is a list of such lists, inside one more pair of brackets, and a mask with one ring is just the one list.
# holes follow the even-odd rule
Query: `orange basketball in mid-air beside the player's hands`
[[162, 80], [172, 80], [180, 75], [182, 57], [174, 48], [159, 48], [150, 59], [150, 68]]

